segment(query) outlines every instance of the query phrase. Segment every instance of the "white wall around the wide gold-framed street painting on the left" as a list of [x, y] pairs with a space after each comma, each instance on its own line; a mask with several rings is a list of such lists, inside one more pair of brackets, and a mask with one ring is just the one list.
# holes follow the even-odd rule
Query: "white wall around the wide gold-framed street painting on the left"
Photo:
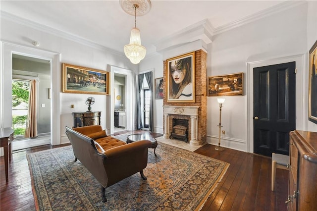
[[[12, 21], [13, 20], [13, 21]], [[64, 36], [60, 32], [56, 32], [53, 29], [49, 29], [46, 26], [39, 26], [37, 24], [29, 24], [17, 18], [7, 18], [1, 16], [1, 41], [4, 43], [17, 44], [17, 46], [22, 46], [25, 49], [34, 49], [33, 52], [50, 52], [59, 54], [59, 66], [53, 68], [53, 72], [56, 72], [57, 80], [61, 80], [61, 64], [70, 63], [74, 65], [90, 67], [99, 70], [105, 70], [107, 65], [115, 65], [118, 67], [123, 67], [126, 69], [133, 70], [137, 72], [138, 66], [131, 64], [131, 62], [124, 56], [123, 53], [116, 53], [110, 51], [106, 48], [98, 46], [98, 44], [93, 44], [88, 41], [80, 41], [78, 38], [74, 38], [74, 41], [70, 40], [69, 35]], [[50, 32], [50, 33], [48, 33]], [[101, 35], [102, 36], [102, 35]], [[36, 40], [40, 43], [39, 47], [34, 47], [32, 41]], [[79, 44], [79, 42], [83, 44]], [[3, 53], [3, 52], [2, 52]], [[6, 54], [11, 52], [4, 52]], [[35, 53], [36, 54], [36, 53]], [[10, 55], [6, 55], [9, 58]], [[4, 55], [1, 56], [1, 61], [3, 64], [10, 62], [8, 59], [3, 60]], [[10, 66], [9, 64], [5, 66]], [[11, 87], [10, 81], [7, 78], [10, 77], [10, 68], [1, 68], [0, 75], [3, 76], [2, 90], [3, 92], [10, 91], [5, 90], [4, 87]], [[56, 92], [56, 98], [60, 102], [56, 109], [57, 114], [53, 116], [54, 119], [59, 119], [57, 124], [59, 124], [58, 129], [60, 130], [60, 137], [56, 137], [53, 140], [53, 144], [60, 144], [68, 142], [67, 137], [64, 134], [64, 128], [66, 125], [73, 126], [72, 112], [83, 112], [87, 110], [87, 105], [85, 101], [88, 97], [92, 96], [96, 99], [96, 103], [92, 106], [92, 110], [102, 111], [102, 126], [106, 129], [110, 127], [106, 119], [109, 118], [107, 114], [110, 113], [109, 105], [110, 96], [105, 95], [90, 95], [90, 94], [68, 94], [61, 93], [62, 81], [52, 81], [51, 86]], [[54, 89], [53, 89], [54, 91]], [[10, 119], [6, 116], [6, 113], [11, 113], [10, 103], [1, 99], [1, 115], [0, 122], [3, 122], [4, 127], [10, 127], [11, 123], [5, 122], [3, 119]], [[57, 102], [57, 101], [55, 101]], [[74, 108], [71, 108], [74, 105]], [[7, 114], [9, 115], [9, 114]], [[54, 122], [54, 121], [53, 121]], [[5, 124], [5, 125], [4, 125]]]

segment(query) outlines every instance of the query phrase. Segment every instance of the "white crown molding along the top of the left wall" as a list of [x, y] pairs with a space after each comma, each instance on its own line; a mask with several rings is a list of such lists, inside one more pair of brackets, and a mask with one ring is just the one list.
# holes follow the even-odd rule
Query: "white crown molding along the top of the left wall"
[[52, 35], [55, 35], [55, 36], [58, 36], [58, 37], [61, 37], [61, 38], [64, 38], [64, 39], [67, 39], [67, 40], [70, 40], [70, 41], [85, 45], [85, 46], [88, 46], [88, 47], [91, 47], [91, 48], [94, 48], [94, 49], [110, 52], [110, 53], [113, 53], [113, 54], [116, 54], [116, 55], [120, 55], [120, 56], [125, 56], [124, 53], [121, 53], [121, 52], [115, 51], [113, 49], [107, 48], [105, 46], [102, 46], [102, 45], [100, 45], [98, 43], [95, 43], [95, 42], [92, 42], [90, 40], [84, 39], [84, 38], [79, 37], [77, 35], [74, 35], [74, 34], [71, 34], [71, 33], [67, 33], [67, 32], [64, 32], [64, 31], [61, 31], [61, 30], [58, 30], [58, 29], [54, 29], [52, 27], [49, 27], [49, 26], [46, 26], [46, 25], [43, 25], [43, 24], [40, 24], [40, 23], [36, 23], [34, 21], [30, 21], [30, 20], [18, 17], [16, 15], [13, 15], [13, 14], [5, 12], [5, 11], [1, 11], [0, 17], [1, 17], [1, 19], [2, 18], [3, 19], [7, 19], [9, 21], [13, 21], [15, 23], [31, 27], [31, 28], [39, 30], [39, 31], [50, 33]]

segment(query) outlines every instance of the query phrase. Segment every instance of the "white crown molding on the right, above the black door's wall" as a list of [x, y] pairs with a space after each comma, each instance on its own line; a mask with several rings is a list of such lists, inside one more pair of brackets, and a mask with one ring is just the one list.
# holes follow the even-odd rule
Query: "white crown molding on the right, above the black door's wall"
[[239, 26], [243, 26], [245, 24], [255, 22], [257, 20], [260, 20], [264, 17], [276, 14], [278, 12], [282, 12], [284, 10], [290, 9], [295, 6], [299, 6], [301, 4], [307, 3], [306, 0], [288, 0], [282, 3], [277, 4], [276, 6], [264, 9], [258, 13], [249, 15], [247, 17], [241, 18], [239, 20], [233, 21], [231, 23], [219, 26], [214, 28], [213, 35], [217, 35], [226, 31], [229, 31], [231, 29], [237, 28]]

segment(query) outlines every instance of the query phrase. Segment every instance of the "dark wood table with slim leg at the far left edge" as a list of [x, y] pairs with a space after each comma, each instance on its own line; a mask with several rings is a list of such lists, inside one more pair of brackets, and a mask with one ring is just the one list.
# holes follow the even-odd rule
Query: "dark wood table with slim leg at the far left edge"
[[11, 161], [12, 146], [14, 130], [10, 127], [0, 128], [0, 147], [4, 151], [4, 168], [5, 168], [5, 182], [9, 181], [9, 161]]

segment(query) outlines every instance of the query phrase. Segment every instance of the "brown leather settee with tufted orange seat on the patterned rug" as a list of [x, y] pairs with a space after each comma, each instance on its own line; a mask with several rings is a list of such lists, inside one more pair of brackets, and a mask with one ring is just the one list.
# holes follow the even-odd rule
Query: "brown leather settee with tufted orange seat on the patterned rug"
[[137, 172], [147, 178], [143, 169], [148, 164], [151, 142], [144, 140], [130, 144], [106, 135], [100, 125], [69, 128], [65, 131], [73, 148], [75, 160], [94, 175], [102, 185], [102, 198], [106, 202], [106, 187]]

